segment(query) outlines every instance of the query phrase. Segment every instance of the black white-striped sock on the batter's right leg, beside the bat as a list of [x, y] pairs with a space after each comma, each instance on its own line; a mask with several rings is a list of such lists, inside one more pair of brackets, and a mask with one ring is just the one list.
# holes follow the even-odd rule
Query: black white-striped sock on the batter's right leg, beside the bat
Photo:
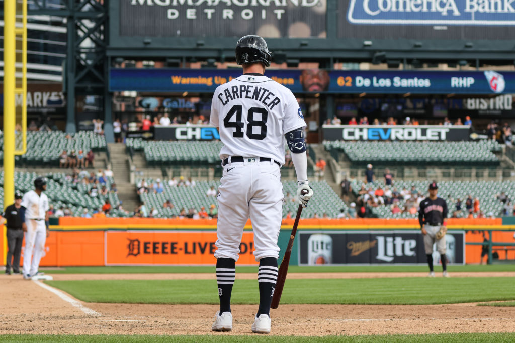
[[259, 260], [258, 285], [259, 285], [259, 309], [256, 317], [266, 314], [270, 317], [270, 304], [273, 291], [277, 283], [277, 259], [264, 257]]

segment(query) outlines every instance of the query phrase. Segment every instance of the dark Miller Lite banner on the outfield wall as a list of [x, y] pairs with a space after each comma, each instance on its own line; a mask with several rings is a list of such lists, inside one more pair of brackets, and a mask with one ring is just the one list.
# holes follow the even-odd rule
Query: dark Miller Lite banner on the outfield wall
[[[445, 235], [447, 260], [465, 264], [465, 232], [449, 230]], [[424, 240], [420, 230], [301, 231], [299, 265], [322, 264], [425, 264]], [[433, 246], [433, 260], [440, 254]]]

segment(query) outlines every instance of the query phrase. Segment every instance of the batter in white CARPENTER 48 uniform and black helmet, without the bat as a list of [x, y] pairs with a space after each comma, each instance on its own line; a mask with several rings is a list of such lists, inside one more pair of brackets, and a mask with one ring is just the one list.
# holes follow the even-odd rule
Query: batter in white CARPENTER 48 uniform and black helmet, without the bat
[[[254, 231], [254, 257], [259, 261], [260, 304], [252, 332], [270, 332], [270, 303], [277, 281], [277, 238], [282, 219], [284, 137], [297, 172], [296, 202], [307, 206], [313, 190], [307, 180], [306, 123], [288, 88], [264, 76], [271, 54], [263, 38], [246, 35], [236, 44], [243, 75], [219, 86], [213, 95], [211, 124], [224, 146], [215, 252], [220, 311], [213, 331], [231, 331], [231, 292], [239, 244], [248, 218]], [[303, 195], [301, 191], [306, 190]]]

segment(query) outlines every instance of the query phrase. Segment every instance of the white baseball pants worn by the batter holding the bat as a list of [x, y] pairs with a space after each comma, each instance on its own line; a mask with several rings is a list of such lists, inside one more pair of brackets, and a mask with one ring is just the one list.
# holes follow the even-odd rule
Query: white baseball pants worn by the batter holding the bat
[[229, 162], [223, 173], [218, 187], [215, 257], [238, 260], [243, 229], [250, 217], [255, 260], [278, 258], [284, 198], [279, 165], [273, 160], [260, 162], [259, 157], [244, 158], [244, 162]]

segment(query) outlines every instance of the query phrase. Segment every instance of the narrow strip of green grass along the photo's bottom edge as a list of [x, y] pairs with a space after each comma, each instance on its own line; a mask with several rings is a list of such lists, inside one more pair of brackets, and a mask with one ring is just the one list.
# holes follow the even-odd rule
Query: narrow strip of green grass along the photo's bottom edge
[[196, 336], [158, 336], [158, 335], [0, 335], [2, 342], [109, 342], [109, 343], [153, 343], [153, 342], [278, 342], [278, 343], [307, 343], [307, 342], [513, 342], [513, 333], [453, 333], [427, 335], [367, 335], [367, 336], [258, 336], [258, 335], [228, 335], [224, 333]]

